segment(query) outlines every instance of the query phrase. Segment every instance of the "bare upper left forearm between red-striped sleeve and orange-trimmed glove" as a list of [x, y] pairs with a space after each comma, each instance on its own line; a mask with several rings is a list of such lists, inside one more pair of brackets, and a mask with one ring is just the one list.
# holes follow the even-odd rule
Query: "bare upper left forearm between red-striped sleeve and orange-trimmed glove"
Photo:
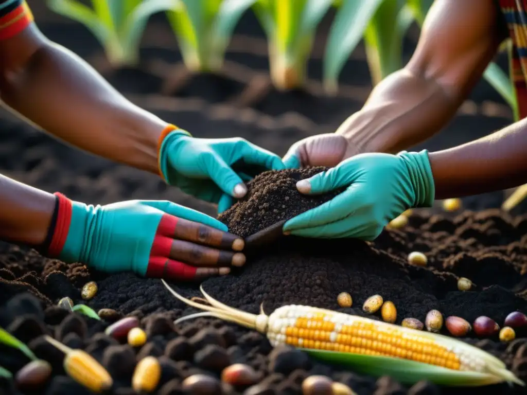
[[156, 173], [157, 142], [166, 123], [126, 100], [80, 57], [31, 29], [23, 34], [37, 34], [41, 44], [22, 68], [4, 74], [2, 100], [61, 140]]

